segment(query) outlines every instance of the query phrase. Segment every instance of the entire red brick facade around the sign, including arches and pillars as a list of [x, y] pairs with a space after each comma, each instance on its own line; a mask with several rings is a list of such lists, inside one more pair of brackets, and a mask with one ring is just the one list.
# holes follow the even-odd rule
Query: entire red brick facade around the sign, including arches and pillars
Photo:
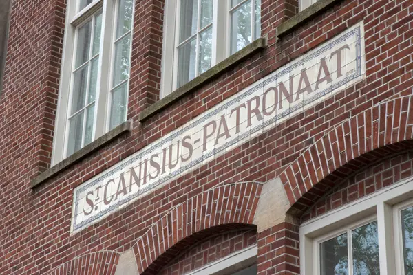
[[[240, 236], [256, 241], [260, 275], [299, 274], [302, 221], [412, 175], [413, 1], [335, 1], [278, 38], [277, 26], [298, 12], [298, 1], [262, 0], [268, 47], [140, 123], [140, 111], [160, 99], [165, 3], [135, 0], [131, 133], [32, 190], [30, 180], [50, 168], [65, 5], [12, 1], [0, 98], [0, 274], [115, 274], [127, 250], [139, 274], [182, 274], [201, 265], [202, 245], [219, 248]], [[76, 186], [359, 21], [366, 78], [70, 234]], [[260, 230], [254, 217], [262, 186], [276, 178], [290, 202], [287, 218]]]

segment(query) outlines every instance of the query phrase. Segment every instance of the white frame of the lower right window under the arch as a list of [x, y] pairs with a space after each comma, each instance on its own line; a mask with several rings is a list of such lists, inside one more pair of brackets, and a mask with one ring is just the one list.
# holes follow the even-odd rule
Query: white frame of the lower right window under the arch
[[[399, 231], [401, 220], [396, 213], [413, 206], [412, 197], [413, 177], [410, 177], [304, 222], [299, 230], [301, 274], [318, 274], [319, 254], [315, 252], [315, 245], [320, 240], [326, 240], [326, 236], [335, 236], [336, 230], [348, 228], [349, 224], [362, 224], [363, 221], [372, 221], [372, 217], [377, 217], [380, 274], [393, 275], [396, 270], [396, 275], [403, 275], [403, 246]], [[394, 238], [399, 238], [396, 239], [399, 242], [394, 242]]]

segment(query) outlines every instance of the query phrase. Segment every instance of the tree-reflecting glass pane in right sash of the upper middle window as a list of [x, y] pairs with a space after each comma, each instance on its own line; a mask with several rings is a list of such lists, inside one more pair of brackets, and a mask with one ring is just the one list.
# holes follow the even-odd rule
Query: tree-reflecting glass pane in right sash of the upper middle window
[[231, 17], [231, 54], [251, 43], [251, 0], [233, 12]]

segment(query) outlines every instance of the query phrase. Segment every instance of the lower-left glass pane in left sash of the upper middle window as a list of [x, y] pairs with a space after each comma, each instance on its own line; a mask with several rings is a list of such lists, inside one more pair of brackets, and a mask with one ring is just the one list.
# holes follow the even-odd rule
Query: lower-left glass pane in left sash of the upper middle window
[[178, 87], [195, 77], [196, 39], [182, 45], [178, 52]]

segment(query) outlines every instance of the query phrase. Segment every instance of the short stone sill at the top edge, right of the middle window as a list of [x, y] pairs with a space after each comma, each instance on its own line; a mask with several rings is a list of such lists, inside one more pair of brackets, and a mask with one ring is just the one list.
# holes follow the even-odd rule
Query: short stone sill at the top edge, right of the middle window
[[314, 17], [317, 17], [317, 15], [321, 14], [321, 12], [324, 12], [324, 10], [330, 8], [335, 3], [339, 3], [340, 1], [341, 0], [319, 0], [315, 2], [305, 10], [295, 14], [295, 16], [279, 24], [277, 27], [277, 36], [280, 38], [282, 36], [286, 36], [299, 26], [310, 21]]

